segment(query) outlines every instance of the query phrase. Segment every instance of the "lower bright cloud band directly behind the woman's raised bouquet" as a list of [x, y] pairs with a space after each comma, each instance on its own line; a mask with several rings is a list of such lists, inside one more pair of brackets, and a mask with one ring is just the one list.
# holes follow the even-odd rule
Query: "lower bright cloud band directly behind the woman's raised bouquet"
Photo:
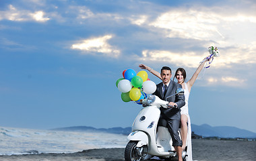
[[[219, 48], [219, 57], [215, 57], [212, 64], [214, 68], [232, 68], [238, 64], [256, 64], [256, 42], [247, 45]], [[203, 53], [203, 52], [202, 52]], [[172, 52], [171, 50], [143, 50], [141, 60], [156, 62], [169, 62], [177, 66], [197, 68], [199, 62], [210, 53], [198, 54], [197, 52]]]

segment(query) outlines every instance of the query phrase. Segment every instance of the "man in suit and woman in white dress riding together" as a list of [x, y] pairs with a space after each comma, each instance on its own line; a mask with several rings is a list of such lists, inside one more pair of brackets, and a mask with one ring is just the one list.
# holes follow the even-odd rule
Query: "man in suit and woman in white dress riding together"
[[[157, 95], [160, 97], [160, 99], [165, 100], [168, 95], [172, 95], [175, 93], [176, 89], [179, 87], [182, 87], [185, 91], [185, 100], [184, 96], [183, 98], [180, 97], [177, 99], [172, 99], [173, 102], [170, 102], [169, 100], [169, 105], [174, 106], [177, 105], [177, 109], [162, 109], [161, 110], [161, 118], [164, 118], [167, 121], [167, 127], [168, 130], [171, 133], [172, 140], [175, 140], [173, 142], [175, 151], [177, 152], [177, 156], [179, 160], [182, 160], [181, 153], [182, 150], [185, 150], [186, 148], [186, 142], [187, 142], [187, 160], [192, 160], [192, 146], [191, 146], [191, 122], [190, 122], [190, 117], [189, 117], [189, 109], [188, 109], [188, 101], [189, 101], [189, 93], [191, 91], [191, 87], [195, 83], [195, 80], [197, 79], [197, 76], [199, 72], [201, 72], [203, 66], [205, 65], [205, 62], [210, 61], [209, 59], [203, 59], [203, 61], [191, 77], [187, 83], [185, 83], [185, 78], [186, 78], [186, 72], [183, 68], [178, 68], [174, 74], [174, 78], [177, 78], [178, 83], [174, 83], [174, 78], [173, 80], [170, 80], [171, 77], [171, 70], [169, 67], [164, 66], [161, 69], [161, 73], [157, 72], [156, 70], [153, 70], [149, 66], [146, 66], [144, 64], [140, 64], [139, 67], [142, 69], [146, 69], [152, 74], [158, 76], [162, 80], [162, 83], [159, 83], [157, 85], [156, 92], [154, 95]], [[167, 87], [166, 87], [166, 86]], [[164, 95], [166, 93], [166, 95]], [[171, 99], [171, 98], [169, 98]], [[185, 102], [184, 102], [185, 101]], [[172, 112], [164, 112], [164, 111], [172, 111]], [[160, 119], [163, 120], [163, 119]], [[174, 122], [172, 122], [174, 121]], [[183, 141], [180, 140], [179, 136], [177, 136], [178, 130], [179, 130], [179, 125], [181, 121], [181, 138]], [[162, 121], [159, 123], [161, 124]], [[189, 138], [187, 138], [187, 134]]]

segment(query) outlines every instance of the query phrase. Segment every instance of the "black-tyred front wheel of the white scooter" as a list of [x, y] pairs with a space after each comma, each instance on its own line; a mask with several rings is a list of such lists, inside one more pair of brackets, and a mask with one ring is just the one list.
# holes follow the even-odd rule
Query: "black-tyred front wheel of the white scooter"
[[125, 161], [139, 161], [148, 151], [148, 147], [137, 148], [137, 141], [130, 141], [125, 147]]

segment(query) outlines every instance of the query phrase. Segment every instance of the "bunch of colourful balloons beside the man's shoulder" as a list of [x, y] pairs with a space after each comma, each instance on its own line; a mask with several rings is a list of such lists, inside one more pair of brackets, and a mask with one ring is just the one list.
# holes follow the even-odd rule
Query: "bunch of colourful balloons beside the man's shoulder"
[[133, 69], [123, 70], [123, 78], [119, 78], [116, 85], [124, 102], [135, 101], [140, 104], [140, 100], [146, 99], [147, 94], [156, 91], [156, 84], [148, 78], [148, 73], [144, 70], [137, 74]]

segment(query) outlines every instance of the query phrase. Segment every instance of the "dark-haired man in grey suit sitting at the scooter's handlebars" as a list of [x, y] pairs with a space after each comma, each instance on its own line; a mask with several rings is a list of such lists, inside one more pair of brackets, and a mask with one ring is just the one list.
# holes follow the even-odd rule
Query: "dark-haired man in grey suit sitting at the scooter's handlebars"
[[[162, 83], [156, 85], [156, 91], [153, 95], [157, 95], [160, 99], [166, 100], [166, 97], [176, 93], [177, 89], [182, 88], [181, 85], [170, 80], [172, 76], [171, 69], [168, 66], [163, 66], [161, 69]], [[179, 160], [183, 160], [182, 153], [182, 141], [179, 137], [179, 125], [181, 121], [181, 107], [185, 105], [184, 95], [175, 95], [167, 99], [169, 105], [173, 108], [160, 108], [161, 115], [158, 125], [168, 127], [170, 136], [172, 137], [172, 146], [174, 146], [175, 151]], [[176, 107], [174, 107], [174, 105]]]

